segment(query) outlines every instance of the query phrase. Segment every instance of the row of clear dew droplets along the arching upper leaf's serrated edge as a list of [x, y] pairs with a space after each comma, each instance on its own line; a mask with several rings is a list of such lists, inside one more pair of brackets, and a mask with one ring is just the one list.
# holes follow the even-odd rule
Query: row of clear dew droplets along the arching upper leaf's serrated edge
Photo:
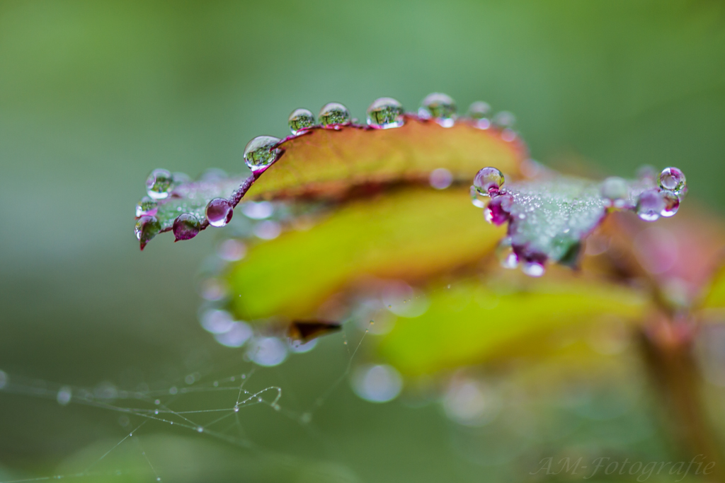
[[[368, 128], [390, 129], [405, 125], [405, 109], [402, 104], [391, 97], [381, 97], [373, 101], [366, 112], [366, 124]], [[418, 109], [418, 118], [423, 120], [431, 119], [442, 127], [452, 127], [457, 120], [457, 108], [455, 101], [444, 93], [431, 93], [421, 101]], [[515, 133], [510, 128], [514, 122], [513, 114], [510, 112], [499, 112], [492, 116], [492, 109], [489, 104], [483, 101], [476, 101], [468, 109], [468, 122], [473, 127], [488, 129], [496, 126], [501, 130], [502, 139], [511, 141], [515, 139]], [[288, 123], [291, 133], [295, 136], [303, 135], [312, 128], [323, 128], [340, 130], [345, 126], [356, 122], [352, 119], [349, 110], [343, 104], [330, 102], [325, 104], [318, 113], [317, 119], [309, 109], [295, 109], [289, 115]], [[355, 126], [360, 127], [360, 126]], [[244, 162], [252, 170], [254, 177], [261, 175], [271, 164], [282, 154], [278, 148], [282, 142], [274, 136], [257, 136], [247, 143], [244, 148]], [[136, 205], [136, 238], [141, 242], [141, 248], [154, 238], [162, 229], [157, 214], [159, 201], [166, 200], [173, 196], [175, 187], [183, 182], [189, 181], [188, 176], [183, 173], [171, 173], [167, 169], [154, 169], [146, 179], [147, 196], [141, 199]], [[442, 180], [439, 185], [450, 183]], [[437, 186], [437, 185], [436, 185]], [[206, 222], [212, 227], [224, 227], [231, 221], [233, 206], [231, 201], [225, 198], [214, 198], [207, 203], [204, 210]], [[199, 219], [195, 214], [179, 214], [173, 222], [173, 233], [175, 240], [190, 240], [204, 228], [204, 220]]]

